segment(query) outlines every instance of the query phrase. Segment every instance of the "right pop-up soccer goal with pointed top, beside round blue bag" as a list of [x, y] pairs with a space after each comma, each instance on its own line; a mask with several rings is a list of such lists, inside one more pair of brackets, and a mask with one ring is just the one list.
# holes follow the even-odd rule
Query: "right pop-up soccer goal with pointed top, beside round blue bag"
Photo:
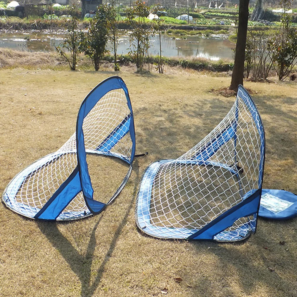
[[255, 233], [262, 191], [265, 134], [242, 87], [227, 116], [196, 146], [145, 171], [138, 189], [138, 228], [158, 238], [238, 241]]

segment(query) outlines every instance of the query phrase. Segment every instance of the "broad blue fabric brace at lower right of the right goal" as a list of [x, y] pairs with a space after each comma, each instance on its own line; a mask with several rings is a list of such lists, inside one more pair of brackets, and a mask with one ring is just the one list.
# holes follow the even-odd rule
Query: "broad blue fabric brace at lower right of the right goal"
[[214, 236], [229, 228], [241, 218], [257, 213], [261, 189], [244, 199], [241, 203], [225, 211], [205, 227], [188, 237], [188, 239], [214, 239]]

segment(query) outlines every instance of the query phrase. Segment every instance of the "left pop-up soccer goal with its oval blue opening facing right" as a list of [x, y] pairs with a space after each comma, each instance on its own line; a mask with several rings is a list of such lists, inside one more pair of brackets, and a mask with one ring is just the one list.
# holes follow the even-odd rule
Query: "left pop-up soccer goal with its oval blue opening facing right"
[[[104, 202], [93, 197], [87, 154], [127, 163], [124, 178]], [[134, 154], [134, 120], [128, 89], [121, 78], [114, 76], [99, 83], [83, 100], [76, 132], [70, 139], [58, 151], [18, 173], [2, 199], [11, 210], [34, 219], [71, 220], [98, 214], [126, 184]], [[100, 174], [99, 166], [99, 179]], [[109, 180], [114, 183], [112, 174]]]

